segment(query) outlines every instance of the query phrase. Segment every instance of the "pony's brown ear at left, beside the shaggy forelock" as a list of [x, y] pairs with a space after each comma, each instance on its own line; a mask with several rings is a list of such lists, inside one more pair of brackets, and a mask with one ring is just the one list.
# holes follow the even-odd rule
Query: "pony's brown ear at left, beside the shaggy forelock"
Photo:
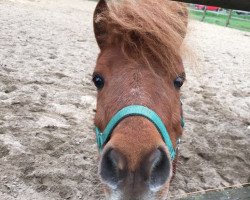
[[100, 49], [104, 48], [108, 36], [106, 23], [100, 19], [100, 15], [106, 11], [108, 11], [106, 0], [99, 0], [95, 8], [93, 22], [96, 42]]

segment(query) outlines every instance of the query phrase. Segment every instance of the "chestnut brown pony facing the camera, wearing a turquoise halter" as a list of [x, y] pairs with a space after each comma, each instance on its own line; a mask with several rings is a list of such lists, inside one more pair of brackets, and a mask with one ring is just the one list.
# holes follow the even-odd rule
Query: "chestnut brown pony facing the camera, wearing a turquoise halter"
[[[177, 147], [187, 16], [183, 4], [168, 0], [99, 1], [94, 32], [101, 52], [93, 81], [101, 131], [122, 108], [143, 105], [158, 114]], [[166, 198], [176, 159], [154, 123], [143, 116], [124, 118], [101, 150], [99, 173], [108, 199]]]

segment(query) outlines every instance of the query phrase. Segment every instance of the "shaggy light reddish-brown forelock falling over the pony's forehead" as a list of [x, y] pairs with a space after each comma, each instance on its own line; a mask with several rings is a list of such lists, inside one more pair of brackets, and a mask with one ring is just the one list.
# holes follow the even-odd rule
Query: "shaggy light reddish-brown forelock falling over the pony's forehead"
[[187, 32], [186, 7], [170, 0], [110, 0], [100, 16], [109, 45], [119, 45], [128, 59], [152, 68], [174, 69]]

